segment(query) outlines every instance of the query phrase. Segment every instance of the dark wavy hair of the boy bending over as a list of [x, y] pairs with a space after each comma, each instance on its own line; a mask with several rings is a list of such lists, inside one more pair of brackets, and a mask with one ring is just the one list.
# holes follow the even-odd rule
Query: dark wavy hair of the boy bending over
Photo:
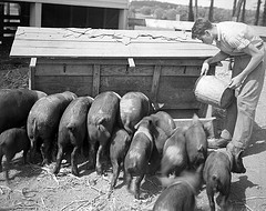
[[200, 18], [192, 27], [192, 39], [196, 39], [205, 34], [205, 30], [212, 29], [213, 24], [209, 20]]

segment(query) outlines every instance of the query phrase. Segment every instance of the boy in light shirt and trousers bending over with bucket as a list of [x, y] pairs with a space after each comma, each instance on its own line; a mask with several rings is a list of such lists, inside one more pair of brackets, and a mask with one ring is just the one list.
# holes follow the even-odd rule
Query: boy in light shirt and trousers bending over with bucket
[[233, 154], [244, 151], [252, 135], [255, 110], [263, 89], [266, 53], [263, 40], [252, 27], [233, 21], [212, 23], [197, 19], [192, 28], [192, 38], [206, 44], [215, 42], [221, 50], [202, 66], [202, 74], [209, 64], [234, 58], [229, 88], [237, 90], [236, 99], [226, 109], [225, 128], [219, 139], [209, 139], [208, 148], [227, 147]]

